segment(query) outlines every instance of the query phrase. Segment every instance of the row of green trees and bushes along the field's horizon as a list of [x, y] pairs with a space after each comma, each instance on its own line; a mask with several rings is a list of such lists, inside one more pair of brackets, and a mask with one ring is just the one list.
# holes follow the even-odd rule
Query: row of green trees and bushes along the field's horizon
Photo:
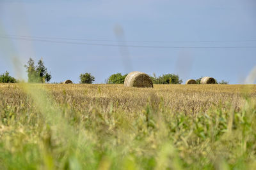
[[[44, 65], [42, 59], [38, 60], [37, 64], [35, 65], [35, 61], [30, 58], [28, 63], [24, 66], [26, 68], [26, 72], [28, 73], [28, 82], [29, 83], [45, 83], [49, 82], [52, 78], [51, 73], [47, 71], [47, 68]], [[115, 73], [108, 77], [105, 80], [105, 83], [108, 84], [123, 84], [125, 77], [127, 74]], [[150, 76], [152, 82], [154, 84], [181, 84], [183, 81], [179, 78], [178, 74], [163, 74], [162, 76]], [[79, 76], [79, 83], [88, 83], [91, 84], [95, 81], [95, 77], [91, 73], [84, 73], [80, 74]], [[196, 83], [200, 84], [202, 77], [196, 79]], [[0, 75], [0, 83], [17, 83], [18, 80], [10, 76], [8, 71], [4, 74]], [[219, 84], [228, 84], [227, 81], [220, 81], [217, 82]]]

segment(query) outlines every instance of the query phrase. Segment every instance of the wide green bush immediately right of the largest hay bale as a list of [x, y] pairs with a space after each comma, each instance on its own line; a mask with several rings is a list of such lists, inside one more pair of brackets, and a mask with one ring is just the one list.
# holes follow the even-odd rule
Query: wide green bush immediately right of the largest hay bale
[[163, 76], [150, 76], [154, 84], [181, 84], [183, 81], [179, 79], [178, 74], [163, 74]]

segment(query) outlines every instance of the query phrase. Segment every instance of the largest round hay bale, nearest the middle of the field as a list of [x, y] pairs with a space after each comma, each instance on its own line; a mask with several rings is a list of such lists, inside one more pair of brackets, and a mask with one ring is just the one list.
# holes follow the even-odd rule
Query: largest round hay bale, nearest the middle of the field
[[139, 71], [134, 71], [125, 77], [124, 80], [125, 87], [153, 87], [153, 82], [150, 76]]

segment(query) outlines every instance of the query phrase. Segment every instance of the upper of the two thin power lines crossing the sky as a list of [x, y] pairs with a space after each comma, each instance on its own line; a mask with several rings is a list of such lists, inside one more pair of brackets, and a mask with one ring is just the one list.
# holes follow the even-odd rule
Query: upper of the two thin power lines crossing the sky
[[63, 39], [70, 41], [106, 41], [106, 42], [131, 42], [131, 43], [221, 43], [221, 42], [252, 42], [256, 39], [244, 39], [244, 40], [210, 40], [210, 41], [122, 41], [122, 40], [110, 40], [110, 39], [83, 39], [83, 38], [57, 38], [57, 37], [44, 37], [44, 36], [19, 36], [19, 35], [0, 35], [16, 38], [38, 38], [38, 39]]

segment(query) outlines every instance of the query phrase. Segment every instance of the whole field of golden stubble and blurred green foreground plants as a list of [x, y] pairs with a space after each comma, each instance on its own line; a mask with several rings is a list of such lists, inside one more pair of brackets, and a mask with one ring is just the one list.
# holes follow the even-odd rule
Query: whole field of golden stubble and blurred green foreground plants
[[256, 85], [0, 85], [1, 169], [256, 169]]

